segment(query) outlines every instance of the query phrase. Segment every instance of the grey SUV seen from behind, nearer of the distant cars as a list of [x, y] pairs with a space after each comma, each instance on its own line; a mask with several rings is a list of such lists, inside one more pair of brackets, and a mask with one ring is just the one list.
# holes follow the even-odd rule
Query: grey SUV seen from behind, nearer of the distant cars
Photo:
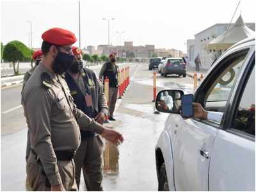
[[161, 68], [161, 76], [177, 74], [186, 77], [186, 63], [182, 58], [166, 58]]

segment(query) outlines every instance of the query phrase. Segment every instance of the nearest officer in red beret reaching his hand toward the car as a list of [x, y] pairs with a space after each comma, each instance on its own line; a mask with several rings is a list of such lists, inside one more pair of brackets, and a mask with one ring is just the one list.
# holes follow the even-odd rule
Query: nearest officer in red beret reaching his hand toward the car
[[31, 143], [29, 182], [33, 190], [77, 190], [73, 158], [81, 142], [79, 129], [101, 134], [113, 143], [123, 138], [84, 115], [74, 104], [63, 79], [74, 60], [74, 33], [52, 28], [42, 38], [44, 58], [22, 92]]

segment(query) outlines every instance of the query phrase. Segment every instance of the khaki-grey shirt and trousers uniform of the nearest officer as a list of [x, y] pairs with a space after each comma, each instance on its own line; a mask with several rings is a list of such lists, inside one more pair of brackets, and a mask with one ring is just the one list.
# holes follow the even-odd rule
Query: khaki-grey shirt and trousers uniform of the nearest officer
[[43, 63], [36, 67], [22, 92], [30, 132], [27, 172], [33, 190], [63, 184], [77, 189], [73, 157], [81, 142], [80, 129], [103, 132], [101, 125], [76, 108], [62, 76]]

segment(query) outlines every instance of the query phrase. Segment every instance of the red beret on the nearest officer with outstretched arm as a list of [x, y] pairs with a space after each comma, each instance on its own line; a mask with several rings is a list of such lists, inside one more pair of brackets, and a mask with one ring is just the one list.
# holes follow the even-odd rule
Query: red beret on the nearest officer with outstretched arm
[[76, 36], [71, 31], [61, 28], [51, 28], [42, 35], [45, 42], [54, 45], [70, 45], [76, 42]]

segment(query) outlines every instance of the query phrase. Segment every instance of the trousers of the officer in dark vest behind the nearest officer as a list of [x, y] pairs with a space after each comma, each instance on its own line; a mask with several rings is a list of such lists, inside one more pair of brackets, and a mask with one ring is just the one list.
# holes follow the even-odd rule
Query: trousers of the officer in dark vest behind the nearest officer
[[76, 182], [79, 188], [81, 170], [87, 191], [102, 191], [102, 152], [103, 141], [99, 135], [82, 138], [76, 156]]

